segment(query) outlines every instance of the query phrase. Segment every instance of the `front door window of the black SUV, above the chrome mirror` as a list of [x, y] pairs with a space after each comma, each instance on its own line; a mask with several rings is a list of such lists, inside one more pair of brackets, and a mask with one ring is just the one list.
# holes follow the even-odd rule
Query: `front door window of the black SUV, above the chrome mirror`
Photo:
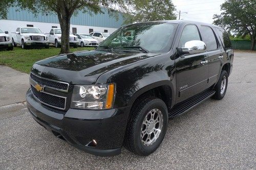
[[187, 41], [193, 41], [193, 40], [201, 40], [197, 26], [187, 25], [181, 33], [179, 47], [184, 47]]

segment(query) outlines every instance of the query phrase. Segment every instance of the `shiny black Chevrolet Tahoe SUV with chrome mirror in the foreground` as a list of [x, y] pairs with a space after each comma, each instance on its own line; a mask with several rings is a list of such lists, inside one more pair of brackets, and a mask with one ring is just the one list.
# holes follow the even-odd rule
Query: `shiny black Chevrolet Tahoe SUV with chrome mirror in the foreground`
[[110, 156], [124, 145], [146, 156], [162, 142], [168, 118], [224, 97], [232, 62], [218, 26], [135, 23], [93, 51], [36, 62], [27, 106], [36, 122], [81, 150]]

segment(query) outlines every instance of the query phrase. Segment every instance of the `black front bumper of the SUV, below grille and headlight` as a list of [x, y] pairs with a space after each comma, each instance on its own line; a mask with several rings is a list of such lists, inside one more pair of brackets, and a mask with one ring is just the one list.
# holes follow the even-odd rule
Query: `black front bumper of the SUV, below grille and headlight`
[[99, 156], [120, 154], [130, 107], [60, 112], [40, 104], [31, 89], [26, 100], [38, 124], [74, 147]]

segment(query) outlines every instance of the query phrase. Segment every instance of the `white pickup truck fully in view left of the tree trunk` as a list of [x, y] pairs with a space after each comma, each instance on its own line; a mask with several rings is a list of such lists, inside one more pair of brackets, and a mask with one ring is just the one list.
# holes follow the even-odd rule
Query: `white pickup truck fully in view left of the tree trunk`
[[16, 32], [11, 33], [12, 44], [22, 45], [22, 48], [28, 48], [29, 46], [43, 46], [49, 48], [48, 36], [41, 32], [39, 28], [35, 27], [19, 27]]

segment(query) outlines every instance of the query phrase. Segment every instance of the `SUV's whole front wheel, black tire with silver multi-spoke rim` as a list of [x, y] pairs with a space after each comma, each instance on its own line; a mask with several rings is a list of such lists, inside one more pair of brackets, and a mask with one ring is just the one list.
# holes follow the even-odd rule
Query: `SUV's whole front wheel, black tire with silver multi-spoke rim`
[[124, 146], [137, 155], [147, 156], [157, 150], [165, 136], [168, 111], [165, 103], [157, 98], [136, 103], [127, 124]]

